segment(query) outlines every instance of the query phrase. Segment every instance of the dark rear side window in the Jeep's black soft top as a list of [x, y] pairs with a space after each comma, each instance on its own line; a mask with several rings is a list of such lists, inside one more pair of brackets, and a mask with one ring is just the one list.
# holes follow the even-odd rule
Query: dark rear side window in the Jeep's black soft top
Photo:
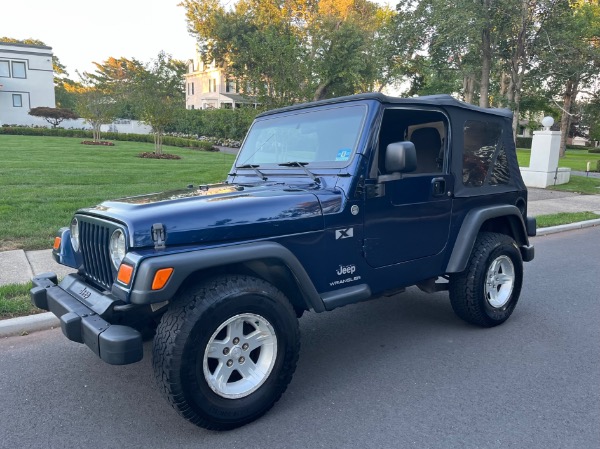
[[466, 187], [499, 185], [508, 184], [509, 179], [501, 126], [475, 120], [465, 122], [463, 184]]

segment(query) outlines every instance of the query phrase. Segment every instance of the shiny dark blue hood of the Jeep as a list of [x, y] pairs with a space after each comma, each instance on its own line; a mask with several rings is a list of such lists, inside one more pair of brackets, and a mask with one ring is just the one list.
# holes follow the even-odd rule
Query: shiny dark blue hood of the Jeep
[[340, 208], [341, 192], [283, 184], [216, 184], [106, 201], [78, 213], [127, 227], [131, 247], [154, 246], [152, 226], [162, 224], [166, 245], [241, 241], [322, 230], [323, 202]]

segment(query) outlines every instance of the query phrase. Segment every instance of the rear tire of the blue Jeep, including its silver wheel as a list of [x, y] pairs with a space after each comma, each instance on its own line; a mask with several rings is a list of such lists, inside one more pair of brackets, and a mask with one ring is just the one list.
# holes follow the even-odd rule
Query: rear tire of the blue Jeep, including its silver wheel
[[497, 326], [515, 309], [522, 284], [523, 260], [515, 241], [505, 234], [481, 232], [465, 271], [450, 278], [450, 303], [468, 323]]

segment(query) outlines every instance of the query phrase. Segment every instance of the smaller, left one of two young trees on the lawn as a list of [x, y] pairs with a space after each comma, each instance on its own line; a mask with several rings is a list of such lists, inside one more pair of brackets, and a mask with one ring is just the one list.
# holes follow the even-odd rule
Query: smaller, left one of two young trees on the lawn
[[117, 118], [119, 110], [115, 100], [97, 87], [89, 86], [77, 94], [77, 112], [92, 125], [94, 141], [100, 140], [100, 127]]

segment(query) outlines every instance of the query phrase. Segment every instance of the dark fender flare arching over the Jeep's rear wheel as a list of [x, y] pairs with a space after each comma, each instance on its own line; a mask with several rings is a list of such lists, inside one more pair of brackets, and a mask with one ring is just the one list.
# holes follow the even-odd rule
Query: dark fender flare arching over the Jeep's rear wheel
[[460, 231], [456, 236], [454, 248], [446, 267], [446, 273], [460, 273], [467, 267], [467, 262], [475, 245], [475, 239], [482, 225], [491, 218], [508, 217], [512, 237], [519, 246], [528, 246], [527, 230], [523, 216], [516, 206], [487, 206], [472, 209], [467, 213]]

